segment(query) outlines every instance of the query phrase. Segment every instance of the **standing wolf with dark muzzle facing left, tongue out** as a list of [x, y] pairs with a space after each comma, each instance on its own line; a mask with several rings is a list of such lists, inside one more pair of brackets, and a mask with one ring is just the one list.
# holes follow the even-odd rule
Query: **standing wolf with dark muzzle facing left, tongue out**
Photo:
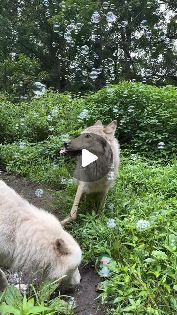
[[[77, 192], [74, 199], [74, 203], [71, 209], [70, 216], [63, 220], [61, 223], [62, 225], [67, 224], [67, 222], [71, 220], [76, 220], [77, 217], [77, 210], [78, 205], [80, 202], [80, 199], [83, 195], [83, 193], [89, 194], [92, 192], [100, 192], [101, 198], [100, 198], [100, 206], [99, 210], [104, 210], [105, 207], [105, 198], [109, 191], [109, 189], [112, 187], [114, 180], [117, 177], [118, 174], [118, 168], [119, 168], [119, 162], [120, 162], [120, 147], [118, 144], [117, 139], [115, 138], [114, 134], [117, 127], [117, 121], [112, 121], [109, 125], [103, 126], [102, 122], [98, 120], [93, 126], [88, 127], [85, 129], [81, 135], [73, 140], [69, 140], [67, 142], [64, 142], [64, 146], [66, 149], [63, 149], [60, 151], [60, 153], [67, 153], [71, 156], [77, 156], [77, 166], [75, 170], [75, 178], [80, 178], [80, 172], [81, 172], [81, 151], [82, 149], [86, 149], [90, 152], [92, 152], [95, 155], [100, 155], [103, 159], [110, 159], [110, 151], [112, 151], [113, 154], [113, 163], [112, 163], [112, 178], [108, 178], [108, 174], [103, 176], [101, 178], [99, 172], [100, 172], [100, 165], [99, 161], [94, 161], [93, 163], [89, 164], [85, 170], [85, 178], [89, 178], [90, 174], [96, 174], [96, 177], [99, 178], [99, 180], [95, 181], [81, 181], [77, 180]], [[98, 135], [98, 138], [95, 141], [95, 137], [93, 140], [92, 135]], [[105, 150], [105, 147], [103, 146], [104, 141], [106, 140], [107, 150]], [[111, 148], [111, 149], [110, 149]], [[82, 171], [83, 172], [83, 171]], [[93, 176], [94, 177], [94, 176]]]

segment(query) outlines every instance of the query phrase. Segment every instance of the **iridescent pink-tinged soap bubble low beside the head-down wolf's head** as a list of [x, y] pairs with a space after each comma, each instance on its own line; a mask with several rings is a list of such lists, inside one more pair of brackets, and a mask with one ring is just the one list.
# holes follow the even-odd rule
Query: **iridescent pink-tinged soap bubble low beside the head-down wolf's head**
[[96, 259], [95, 269], [99, 276], [109, 277], [111, 275], [110, 262], [113, 261], [112, 257], [108, 255], [102, 255]]

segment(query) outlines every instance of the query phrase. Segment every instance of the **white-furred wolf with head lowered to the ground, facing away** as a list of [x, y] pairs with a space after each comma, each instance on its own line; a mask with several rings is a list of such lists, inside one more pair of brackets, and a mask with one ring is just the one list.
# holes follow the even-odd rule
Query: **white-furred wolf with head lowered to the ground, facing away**
[[76, 285], [81, 249], [55, 216], [39, 209], [0, 180], [0, 266]]

